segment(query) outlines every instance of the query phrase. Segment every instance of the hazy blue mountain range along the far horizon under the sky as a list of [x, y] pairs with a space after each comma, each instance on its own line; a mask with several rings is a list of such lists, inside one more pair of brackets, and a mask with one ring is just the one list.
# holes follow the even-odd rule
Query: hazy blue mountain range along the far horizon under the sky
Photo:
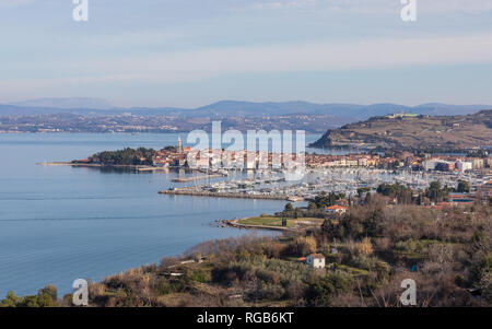
[[131, 113], [142, 116], [184, 116], [197, 118], [259, 117], [281, 115], [325, 115], [347, 118], [350, 121], [384, 116], [394, 113], [414, 113], [419, 115], [468, 115], [490, 105], [447, 105], [441, 103], [405, 106], [398, 104], [315, 104], [308, 102], [254, 103], [239, 101], [222, 101], [198, 108], [178, 107], [115, 107], [98, 98], [42, 98], [0, 105], [0, 116], [36, 115], [36, 114], [78, 114], [90, 116], [108, 116]]

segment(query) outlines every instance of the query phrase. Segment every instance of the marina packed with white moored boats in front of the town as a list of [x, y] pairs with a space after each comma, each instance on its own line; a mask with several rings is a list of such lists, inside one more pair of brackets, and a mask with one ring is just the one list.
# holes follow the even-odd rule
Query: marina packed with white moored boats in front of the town
[[[276, 171], [253, 172], [248, 174], [247, 178], [241, 175], [230, 175], [226, 178], [204, 185], [169, 187], [161, 190], [160, 193], [298, 202], [314, 199], [321, 191], [344, 193], [349, 198], [355, 197], [359, 189], [368, 188], [375, 191], [382, 184], [401, 184], [415, 191], [421, 191], [425, 190], [431, 181], [440, 181], [442, 186], [455, 188], [459, 180], [467, 180], [472, 186], [480, 186], [490, 179], [489, 176], [482, 176], [475, 172], [442, 173], [378, 168], [312, 168], [306, 172], [303, 179], [297, 181], [286, 181], [282, 172]], [[196, 180], [190, 177], [188, 181]]]

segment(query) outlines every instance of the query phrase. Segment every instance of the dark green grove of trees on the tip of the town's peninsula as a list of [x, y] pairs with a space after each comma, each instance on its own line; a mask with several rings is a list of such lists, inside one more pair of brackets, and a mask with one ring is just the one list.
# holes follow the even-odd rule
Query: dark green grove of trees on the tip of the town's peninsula
[[137, 150], [127, 148], [118, 151], [105, 151], [89, 157], [89, 162], [103, 165], [152, 165], [155, 151], [139, 148]]

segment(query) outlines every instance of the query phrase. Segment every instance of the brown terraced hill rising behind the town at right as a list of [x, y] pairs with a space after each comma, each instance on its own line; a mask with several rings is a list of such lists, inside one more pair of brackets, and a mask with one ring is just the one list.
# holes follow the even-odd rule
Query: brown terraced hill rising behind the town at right
[[374, 117], [328, 130], [313, 148], [461, 151], [492, 146], [492, 109], [465, 116]]

